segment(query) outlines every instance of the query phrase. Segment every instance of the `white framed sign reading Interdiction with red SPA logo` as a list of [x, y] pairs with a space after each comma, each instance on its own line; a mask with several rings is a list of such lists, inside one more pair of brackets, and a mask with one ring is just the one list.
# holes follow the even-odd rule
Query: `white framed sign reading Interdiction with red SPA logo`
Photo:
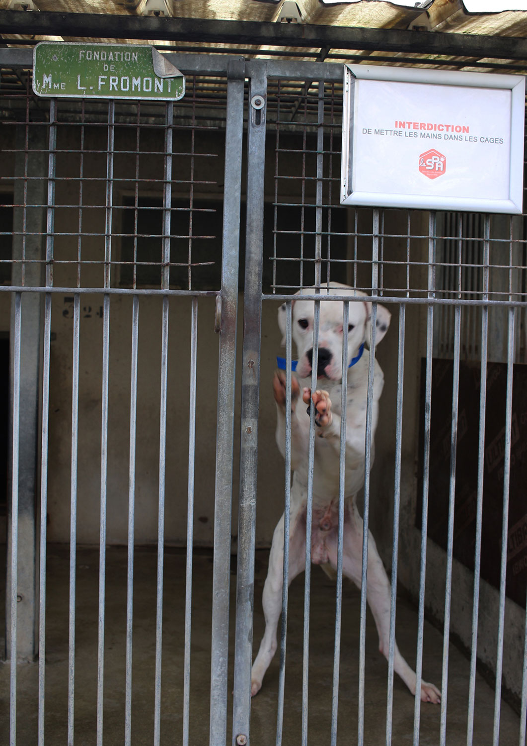
[[521, 213], [525, 78], [345, 65], [341, 203]]

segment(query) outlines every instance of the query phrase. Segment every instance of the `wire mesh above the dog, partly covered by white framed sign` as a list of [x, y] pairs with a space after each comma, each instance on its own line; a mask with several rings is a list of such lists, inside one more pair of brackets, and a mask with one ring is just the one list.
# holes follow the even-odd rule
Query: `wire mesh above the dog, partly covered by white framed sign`
[[[524, 217], [490, 216], [490, 261], [485, 266], [492, 282], [485, 289], [482, 215], [438, 213], [430, 233], [426, 211], [379, 210], [377, 228], [373, 209], [341, 207], [341, 87], [326, 84], [324, 89], [323, 151], [314, 126], [318, 100], [316, 82], [276, 83], [274, 242], [266, 257], [273, 265], [272, 292], [311, 286], [315, 266], [320, 266], [323, 281], [347, 282], [395, 298], [526, 301]], [[379, 240], [376, 287], [371, 281], [372, 239]], [[430, 240], [435, 245], [432, 288], [427, 278]]]

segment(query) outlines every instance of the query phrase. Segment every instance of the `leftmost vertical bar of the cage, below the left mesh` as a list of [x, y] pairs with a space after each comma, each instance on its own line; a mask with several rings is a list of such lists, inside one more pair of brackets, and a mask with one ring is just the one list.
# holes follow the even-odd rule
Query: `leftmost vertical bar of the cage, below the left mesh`
[[20, 436], [20, 331], [22, 294], [15, 293], [13, 328], [13, 445], [11, 471], [11, 547], [10, 547], [10, 746], [16, 746], [16, 665], [17, 596], [19, 551], [19, 436]]

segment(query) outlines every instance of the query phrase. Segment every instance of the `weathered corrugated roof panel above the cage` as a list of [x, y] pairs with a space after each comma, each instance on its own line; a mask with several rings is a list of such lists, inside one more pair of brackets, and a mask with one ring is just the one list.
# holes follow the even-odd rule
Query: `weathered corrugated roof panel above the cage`
[[[152, 0], [34, 0], [36, 6], [44, 12], [71, 13], [72, 19], [75, 19], [76, 13], [107, 16], [107, 33], [115, 34], [113, 37], [110, 36], [108, 40], [117, 38], [119, 35], [119, 25], [118, 23], [113, 24], [111, 16], [140, 18], [148, 11], [149, 1]], [[160, 5], [160, 7], [166, 7], [167, 14], [170, 16], [181, 19], [207, 19], [209, 21], [274, 22], [278, 19], [283, 7], [282, 0], [163, 0], [163, 3], [165, 5]], [[527, 0], [464, 0], [464, 4], [461, 0], [423, 0], [417, 4], [417, 7], [415, 0], [392, 0], [391, 2], [385, 0], [296, 0], [296, 4], [300, 9], [302, 22], [306, 25], [407, 29], [411, 27], [412, 23], [417, 22], [419, 31], [428, 29], [432, 34], [435, 31], [441, 31], [492, 37], [527, 37]], [[9, 7], [12, 7], [11, 0], [0, 0], [0, 10]], [[31, 15], [33, 13], [28, 12], [28, 16]], [[75, 22], [72, 22], [72, 28], [74, 26]], [[68, 28], [67, 23], [63, 25], [60, 33], [64, 34], [65, 28]], [[125, 25], [122, 24], [122, 28], [125, 28]], [[160, 28], [162, 28], [162, 19], [160, 19]], [[46, 28], [46, 31], [49, 32], [49, 28]], [[77, 29], [72, 33], [78, 34], [79, 31]], [[268, 31], [265, 33], [267, 34]], [[12, 34], [10, 36], [3, 35], [3, 38], [7, 43], [10, 40], [20, 42], [25, 39], [28, 40], [28, 43], [35, 43], [42, 38], [49, 37], [36, 37], [30, 34], [24, 37], [20, 34], [16, 36]], [[78, 37], [73, 36], [63, 36], [63, 38], [69, 41], [78, 40]], [[327, 38], [328, 35], [326, 34]], [[103, 41], [100, 37], [90, 40]], [[104, 39], [104, 41], [106, 40]], [[122, 37], [121, 40], [126, 41]], [[130, 39], [130, 41], [133, 40]], [[148, 42], [159, 44], [165, 48], [183, 48], [183, 51], [190, 49], [196, 51], [201, 49], [205, 51], [229, 50], [233, 53], [241, 52], [246, 56], [252, 56], [253, 54], [269, 56], [268, 50], [272, 47], [273, 37], [270, 36], [269, 45], [265, 45], [265, 43], [262, 44], [260, 35], [259, 46], [256, 46], [250, 44], [250, 39], [246, 34], [242, 42], [242, 48], [236, 45], [232, 36], [229, 43], [226, 44], [218, 44], [217, 40], [215, 40], [215, 43], [200, 43], [199, 40], [192, 42], [165, 40], [159, 42], [155, 38], [148, 40]], [[326, 46], [330, 47], [330, 43]], [[301, 50], [299, 47], [274, 47], [274, 56], [277, 54], [297, 58], [305, 56], [311, 59], [318, 57], [318, 59], [324, 60], [329, 51], [332, 60], [346, 59], [350, 57], [350, 54], [355, 53], [350, 49], [340, 53], [338, 48], [303, 48]], [[356, 50], [356, 52], [360, 54], [361, 50]], [[383, 55], [374, 54], [373, 56], [382, 57]], [[408, 54], [406, 54], [406, 57], [408, 57]]]

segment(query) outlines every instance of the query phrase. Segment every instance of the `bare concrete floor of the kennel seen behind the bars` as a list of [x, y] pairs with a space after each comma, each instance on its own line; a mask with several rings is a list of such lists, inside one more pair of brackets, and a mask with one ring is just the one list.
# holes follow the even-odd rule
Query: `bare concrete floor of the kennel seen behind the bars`
[[[262, 586], [268, 553], [256, 553], [255, 647], [259, 645], [263, 619]], [[165, 553], [165, 597], [162, 651], [161, 743], [180, 743], [183, 692], [184, 551]], [[132, 743], [150, 744], [154, 737], [154, 654], [155, 588], [157, 555], [151, 549], [138, 549], [135, 558], [133, 627], [133, 715]], [[68, 665], [68, 567], [69, 550], [48, 548], [47, 638], [45, 668], [45, 744], [66, 744], [67, 665]], [[0, 575], [4, 578], [4, 573]], [[124, 548], [107, 550], [107, 624], [104, 668], [104, 744], [124, 743], [124, 664], [127, 553]], [[75, 745], [95, 744], [97, 685], [98, 551], [78, 550], [77, 631], [75, 668]], [[233, 630], [234, 591], [231, 588]], [[0, 590], [4, 597], [4, 590]], [[190, 702], [190, 742], [209, 743], [210, 606], [212, 597], [212, 553], [195, 551], [192, 598], [192, 663]], [[312, 573], [311, 654], [309, 674], [309, 744], [329, 744], [331, 721], [332, 648], [334, 633], [335, 586], [318, 568]], [[346, 583], [343, 604], [340, 706], [338, 744], [356, 743], [359, 592]], [[288, 662], [286, 668], [285, 722], [283, 743], [300, 744], [302, 688], [303, 576], [295, 580], [290, 593]], [[397, 640], [403, 655], [414, 665], [417, 637], [415, 609], [401, 600], [397, 606]], [[426, 624], [423, 675], [441, 686], [441, 633]], [[231, 661], [233, 656], [231, 655]], [[449, 692], [446, 741], [448, 746], [466, 743], [467, 690], [469, 664], [452, 645], [449, 651]], [[385, 660], [377, 651], [373, 619], [367, 621], [365, 680], [365, 745], [385, 743], [386, 713]], [[229, 683], [229, 710], [232, 708], [232, 665]], [[278, 656], [271, 664], [264, 686], [253, 699], [251, 742], [271, 746], [275, 742], [277, 717]], [[9, 665], [0, 665], [0, 743], [8, 742]], [[19, 746], [37, 744], [37, 665], [19, 665], [17, 702]], [[394, 686], [394, 746], [411, 744], [414, 700], [403, 683]], [[440, 708], [423, 704], [420, 744], [438, 745]], [[481, 677], [476, 685], [474, 744], [492, 742], [493, 690]], [[230, 725], [229, 725], [230, 733]], [[502, 703], [500, 743], [517, 743], [519, 718]], [[229, 740], [227, 741], [229, 742]]]

